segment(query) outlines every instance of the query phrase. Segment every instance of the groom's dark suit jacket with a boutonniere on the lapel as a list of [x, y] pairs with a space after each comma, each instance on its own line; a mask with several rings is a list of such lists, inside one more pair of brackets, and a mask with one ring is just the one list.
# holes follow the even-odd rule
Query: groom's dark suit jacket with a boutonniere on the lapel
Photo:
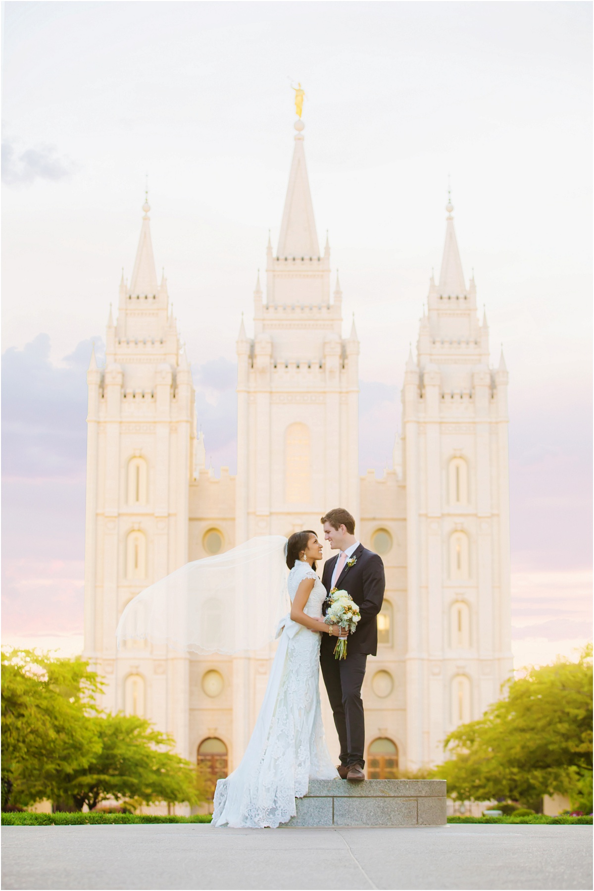
[[[322, 584], [329, 594], [332, 573], [339, 556], [340, 552], [336, 557], [332, 557], [326, 562], [321, 575]], [[367, 653], [368, 656], [377, 656], [378, 620], [376, 617], [381, 609], [386, 589], [384, 564], [378, 554], [368, 551], [362, 544], [359, 545], [353, 556], [357, 559], [356, 563], [350, 568], [345, 565], [335, 583], [336, 588], [341, 588], [351, 595], [361, 613], [361, 621], [357, 625], [357, 630], [354, 634], [348, 635], [346, 658], [348, 658], [348, 653]], [[324, 602], [322, 609], [324, 615], [326, 609], [327, 604]], [[334, 649], [336, 639], [330, 638], [329, 634], [322, 634], [321, 646], [328, 647], [330, 645]]]

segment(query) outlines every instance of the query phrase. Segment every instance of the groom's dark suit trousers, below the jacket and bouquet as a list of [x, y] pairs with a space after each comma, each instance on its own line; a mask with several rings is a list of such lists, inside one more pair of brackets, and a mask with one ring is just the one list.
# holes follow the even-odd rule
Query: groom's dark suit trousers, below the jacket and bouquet
[[320, 666], [338, 732], [340, 763], [365, 764], [365, 719], [361, 688], [367, 654], [350, 653], [346, 659], [335, 659], [332, 650], [334, 645], [321, 647]]

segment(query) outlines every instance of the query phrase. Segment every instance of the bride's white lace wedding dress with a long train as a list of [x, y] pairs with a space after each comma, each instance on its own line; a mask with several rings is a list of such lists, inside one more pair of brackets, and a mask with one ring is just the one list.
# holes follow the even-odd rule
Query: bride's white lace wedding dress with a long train
[[[326, 589], [305, 561], [289, 573], [291, 603], [304, 578], [315, 579], [304, 611], [321, 617]], [[289, 615], [279, 628], [281, 641], [248, 748], [237, 769], [216, 783], [213, 826], [276, 828], [295, 816], [295, 799], [305, 795], [310, 778], [338, 777], [321, 723], [321, 634]]]

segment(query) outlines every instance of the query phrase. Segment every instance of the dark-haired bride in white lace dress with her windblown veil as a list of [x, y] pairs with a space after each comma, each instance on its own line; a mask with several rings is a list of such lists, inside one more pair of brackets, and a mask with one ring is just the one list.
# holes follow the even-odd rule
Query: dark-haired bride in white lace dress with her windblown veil
[[[311, 530], [289, 541], [256, 536], [151, 584], [119, 619], [118, 649], [150, 641], [234, 656], [262, 649], [275, 632], [281, 637], [248, 748], [216, 784], [214, 826], [277, 827], [295, 815], [295, 799], [310, 778], [338, 777], [321, 723], [318, 678], [321, 634], [340, 631], [321, 618], [326, 589], [315, 572], [321, 555]], [[291, 609], [279, 622], [288, 590]]]

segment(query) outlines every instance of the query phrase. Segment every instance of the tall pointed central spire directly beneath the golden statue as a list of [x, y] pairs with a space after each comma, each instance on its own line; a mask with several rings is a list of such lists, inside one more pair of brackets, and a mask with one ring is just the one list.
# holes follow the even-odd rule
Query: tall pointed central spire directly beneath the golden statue
[[309, 189], [301, 119], [295, 122], [295, 151], [289, 174], [289, 188], [282, 213], [277, 257], [319, 257], [320, 245], [313, 218], [312, 193]]

